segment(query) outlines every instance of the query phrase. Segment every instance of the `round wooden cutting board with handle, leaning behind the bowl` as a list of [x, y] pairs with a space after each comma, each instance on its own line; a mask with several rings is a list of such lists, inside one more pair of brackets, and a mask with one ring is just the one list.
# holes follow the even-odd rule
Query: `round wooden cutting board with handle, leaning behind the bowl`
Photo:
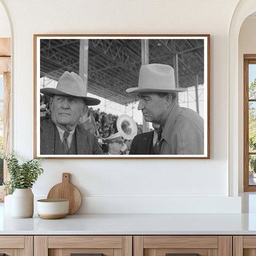
[[68, 215], [74, 214], [81, 206], [82, 196], [76, 186], [70, 183], [70, 174], [62, 174], [62, 183], [53, 186], [47, 196], [47, 199], [68, 199], [70, 207]]

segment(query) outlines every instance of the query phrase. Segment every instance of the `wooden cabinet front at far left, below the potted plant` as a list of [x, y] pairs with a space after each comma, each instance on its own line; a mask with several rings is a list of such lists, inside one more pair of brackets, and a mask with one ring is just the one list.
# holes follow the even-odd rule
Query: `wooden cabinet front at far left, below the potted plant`
[[0, 255], [33, 256], [33, 236], [0, 236]]

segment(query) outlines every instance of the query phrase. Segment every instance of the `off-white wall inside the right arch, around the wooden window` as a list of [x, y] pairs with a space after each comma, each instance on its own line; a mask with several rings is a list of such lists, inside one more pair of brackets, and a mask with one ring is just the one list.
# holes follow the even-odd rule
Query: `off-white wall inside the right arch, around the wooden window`
[[244, 190], [243, 122], [244, 122], [244, 54], [256, 54], [256, 16], [247, 17], [239, 33], [239, 191]]

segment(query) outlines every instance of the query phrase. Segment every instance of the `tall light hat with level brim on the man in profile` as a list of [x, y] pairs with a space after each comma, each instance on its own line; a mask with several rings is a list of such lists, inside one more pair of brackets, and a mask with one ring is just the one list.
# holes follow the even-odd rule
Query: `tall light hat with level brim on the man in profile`
[[126, 92], [184, 92], [186, 88], [175, 87], [174, 69], [164, 64], [148, 64], [140, 68], [138, 87]]

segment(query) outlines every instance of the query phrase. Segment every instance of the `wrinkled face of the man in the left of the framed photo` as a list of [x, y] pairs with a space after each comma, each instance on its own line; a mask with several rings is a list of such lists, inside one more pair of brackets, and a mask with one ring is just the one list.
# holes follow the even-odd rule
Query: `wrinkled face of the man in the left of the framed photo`
[[51, 117], [54, 124], [63, 130], [73, 130], [87, 107], [82, 98], [54, 95], [50, 103]]

